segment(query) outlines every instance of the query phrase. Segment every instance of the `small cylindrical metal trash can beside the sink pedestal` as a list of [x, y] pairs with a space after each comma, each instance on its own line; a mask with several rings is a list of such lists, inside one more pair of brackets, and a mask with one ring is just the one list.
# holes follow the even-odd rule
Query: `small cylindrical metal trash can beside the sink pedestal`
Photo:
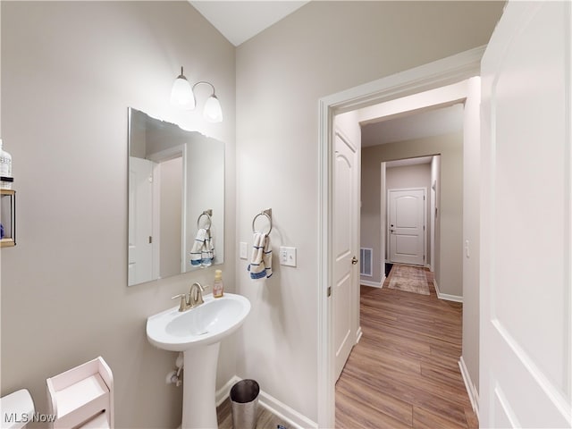
[[254, 380], [240, 380], [231, 388], [232, 427], [255, 429], [258, 417], [260, 386]]

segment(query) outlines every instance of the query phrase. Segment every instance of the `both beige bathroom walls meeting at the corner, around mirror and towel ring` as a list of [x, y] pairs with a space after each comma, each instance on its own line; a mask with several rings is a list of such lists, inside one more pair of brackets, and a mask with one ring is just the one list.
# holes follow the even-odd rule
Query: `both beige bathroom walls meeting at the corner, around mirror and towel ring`
[[[102, 355], [118, 428], [180, 423], [181, 390], [164, 384], [174, 355], [147, 343], [145, 321], [213, 270], [125, 286], [133, 106], [227, 143], [225, 287], [236, 285], [252, 312], [236, 352], [223, 344], [218, 385], [235, 373], [255, 378], [315, 420], [317, 101], [484, 45], [501, 9], [311, 2], [240, 46], [235, 73], [233, 46], [187, 2], [3, 1], [2, 137], [14, 160], [18, 246], [1, 258], [2, 394], [28, 387], [44, 411], [46, 377]], [[168, 105], [181, 64], [189, 80], [214, 83], [222, 124]], [[297, 247], [298, 266], [254, 284], [248, 261], [235, 270], [236, 243], [251, 242], [252, 217], [266, 207], [274, 250]]]

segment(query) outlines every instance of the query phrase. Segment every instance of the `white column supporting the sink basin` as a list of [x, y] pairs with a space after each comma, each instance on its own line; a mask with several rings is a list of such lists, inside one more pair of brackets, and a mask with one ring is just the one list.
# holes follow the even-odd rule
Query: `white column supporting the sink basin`
[[182, 429], [217, 428], [216, 367], [220, 342], [183, 351]]

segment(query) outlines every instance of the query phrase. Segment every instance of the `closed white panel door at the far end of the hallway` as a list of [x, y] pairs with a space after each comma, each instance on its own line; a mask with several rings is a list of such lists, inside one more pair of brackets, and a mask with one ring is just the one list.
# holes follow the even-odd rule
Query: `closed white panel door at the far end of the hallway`
[[425, 189], [389, 189], [390, 261], [425, 265]]

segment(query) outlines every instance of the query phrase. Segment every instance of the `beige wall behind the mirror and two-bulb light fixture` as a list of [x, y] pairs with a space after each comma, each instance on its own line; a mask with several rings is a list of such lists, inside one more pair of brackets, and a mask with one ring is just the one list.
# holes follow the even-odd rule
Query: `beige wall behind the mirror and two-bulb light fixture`
[[[207, 41], [207, 43], [206, 43]], [[2, 395], [101, 355], [118, 428], [177, 427], [176, 355], [151, 347], [148, 315], [212, 269], [128, 288], [127, 108], [226, 145], [225, 285], [234, 289], [235, 50], [187, 2], [2, 2], [2, 138], [13, 156], [18, 245], [2, 249]], [[225, 120], [169, 105], [185, 66], [210, 80]], [[212, 363], [198, 363], [212, 365]], [[219, 385], [236, 373], [224, 343]]]

